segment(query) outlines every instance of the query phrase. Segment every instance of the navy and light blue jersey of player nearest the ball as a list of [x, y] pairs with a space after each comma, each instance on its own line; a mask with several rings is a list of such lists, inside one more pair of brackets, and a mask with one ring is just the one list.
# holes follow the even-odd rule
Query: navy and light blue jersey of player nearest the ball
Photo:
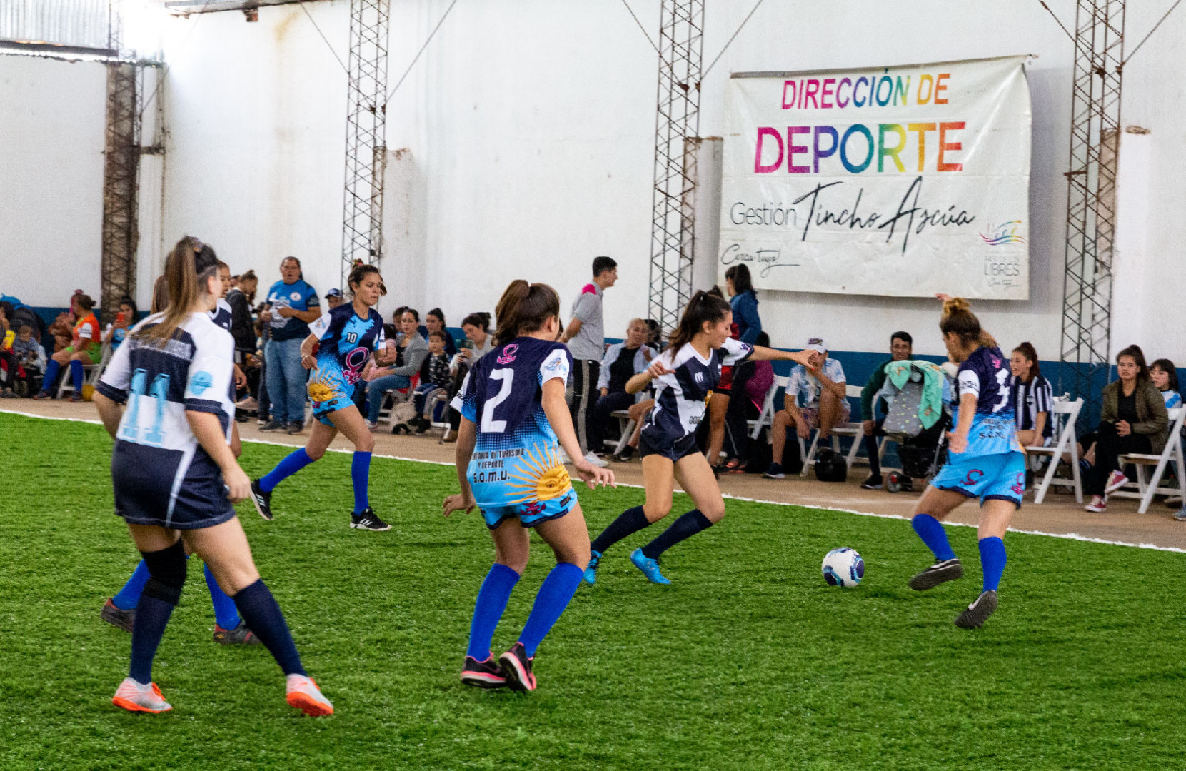
[[1009, 377], [1009, 359], [995, 346], [976, 349], [959, 365], [956, 372], [956, 403], [964, 394], [976, 396], [976, 416], [968, 433], [968, 454], [993, 455], [1021, 451]]

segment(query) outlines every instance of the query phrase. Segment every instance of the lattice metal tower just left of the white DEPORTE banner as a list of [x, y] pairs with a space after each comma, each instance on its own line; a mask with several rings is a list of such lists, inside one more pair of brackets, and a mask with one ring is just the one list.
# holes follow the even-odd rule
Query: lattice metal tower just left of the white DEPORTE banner
[[649, 314], [667, 331], [691, 297], [693, 203], [700, 133], [704, 0], [663, 0], [651, 205]]

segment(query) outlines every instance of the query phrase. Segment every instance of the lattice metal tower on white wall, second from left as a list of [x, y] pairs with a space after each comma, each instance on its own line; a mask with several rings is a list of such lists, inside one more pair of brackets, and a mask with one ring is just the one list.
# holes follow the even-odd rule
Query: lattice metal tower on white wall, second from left
[[350, 0], [343, 288], [355, 260], [375, 263], [383, 256], [388, 4], [389, 0]]

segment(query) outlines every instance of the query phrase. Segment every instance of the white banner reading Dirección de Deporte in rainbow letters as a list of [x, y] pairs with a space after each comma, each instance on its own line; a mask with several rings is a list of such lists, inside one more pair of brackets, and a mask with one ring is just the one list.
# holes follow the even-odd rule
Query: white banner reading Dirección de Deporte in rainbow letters
[[1026, 59], [733, 75], [721, 285], [1028, 299]]

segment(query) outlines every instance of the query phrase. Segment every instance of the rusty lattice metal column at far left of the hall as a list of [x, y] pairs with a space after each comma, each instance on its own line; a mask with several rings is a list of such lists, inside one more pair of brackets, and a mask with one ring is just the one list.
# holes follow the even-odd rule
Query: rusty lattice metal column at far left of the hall
[[[122, 24], [116, 4], [108, 6], [108, 49], [120, 50]], [[107, 63], [107, 132], [103, 148], [103, 242], [100, 261], [100, 307], [103, 321], [114, 318], [120, 298], [136, 292], [136, 203], [140, 191], [140, 113], [144, 66], [127, 60]]]

